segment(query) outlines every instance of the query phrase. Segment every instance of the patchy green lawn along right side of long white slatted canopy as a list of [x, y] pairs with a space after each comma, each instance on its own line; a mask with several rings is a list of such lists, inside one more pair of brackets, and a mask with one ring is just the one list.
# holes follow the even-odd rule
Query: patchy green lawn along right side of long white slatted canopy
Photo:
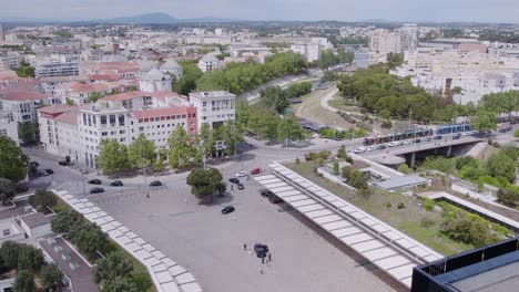
[[[285, 166], [444, 255], [475, 248], [444, 236], [439, 231], [442, 221], [441, 212], [425, 210], [417, 198], [378, 189], [374, 189], [369, 198], [364, 198], [340, 185], [316, 176], [313, 170], [317, 166], [315, 161], [293, 163]], [[400, 202], [405, 207], [398, 209]], [[427, 228], [421, 225], [424, 218], [431, 222]]]

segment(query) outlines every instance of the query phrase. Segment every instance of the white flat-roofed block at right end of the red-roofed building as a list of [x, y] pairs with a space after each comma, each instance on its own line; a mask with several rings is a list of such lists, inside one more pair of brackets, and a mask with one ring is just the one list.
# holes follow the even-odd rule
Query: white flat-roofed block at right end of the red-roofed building
[[190, 93], [190, 104], [196, 107], [199, 128], [203, 124], [214, 128], [234, 121], [235, 98], [235, 94], [225, 91]]

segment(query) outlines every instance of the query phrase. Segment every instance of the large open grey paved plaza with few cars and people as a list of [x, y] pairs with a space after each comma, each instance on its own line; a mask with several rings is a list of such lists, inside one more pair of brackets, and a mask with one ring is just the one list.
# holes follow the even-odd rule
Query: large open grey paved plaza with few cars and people
[[[191, 271], [205, 291], [393, 291], [297, 219], [298, 213], [262, 198], [253, 180], [241, 179], [213, 204], [199, 205], [177, 181], [144, 191], [90, 196], [93, 202]], [[232, 205], [236, 211], [222, 215]], [[271, 267], [243, 250], [266, 243]]]

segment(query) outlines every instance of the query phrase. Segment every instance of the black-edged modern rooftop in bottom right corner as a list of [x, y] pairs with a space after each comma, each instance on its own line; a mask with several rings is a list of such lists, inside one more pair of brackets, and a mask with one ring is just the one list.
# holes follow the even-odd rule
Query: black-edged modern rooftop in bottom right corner
[[519, 238], [429, 262], [413, 270], [411, 292], [519, 291]]

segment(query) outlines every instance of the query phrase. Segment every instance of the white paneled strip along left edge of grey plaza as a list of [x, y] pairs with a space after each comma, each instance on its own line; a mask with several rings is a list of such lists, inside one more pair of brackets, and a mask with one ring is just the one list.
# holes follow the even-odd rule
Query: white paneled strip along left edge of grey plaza
[[52, 190], [89, 221], [96, 223], [112, 240], [147, 268], [159, 292], [202, 292], [196, 279], [164, 253], [152, 247], [125, 226], [115, 221], [86, 198], [78, 199], [67, 191]]

